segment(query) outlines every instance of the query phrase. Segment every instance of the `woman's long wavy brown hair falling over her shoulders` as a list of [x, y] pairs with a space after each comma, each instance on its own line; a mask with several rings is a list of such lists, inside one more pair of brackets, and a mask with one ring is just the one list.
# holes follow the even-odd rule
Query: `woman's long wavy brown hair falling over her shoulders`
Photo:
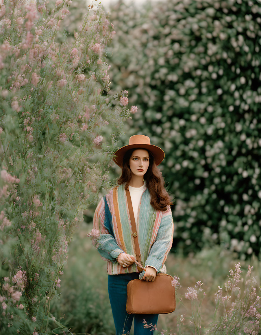
[[171, 196], [166, 191], [164, 185], [165, 180], [162, 173], [155, 164], [153, 154], [145, 148], [133, 148], [128, 150], [123, 157], [123, 164], [121, 168], [121, 176], [118, 178], [118, 185], [126, 183], [125, 189], [129, 186], [129, 182], [132, 179], [132, 171], [129, 167], [129, 159], [136, 149], [147, 150], [149, 153], [149, 167], [145, 175], [143, 176], [146, 181], [146, 185], [151, 195], [150, 204], [156, 210], [164, 211], [167, 209], [167, 205], [173, 205]]

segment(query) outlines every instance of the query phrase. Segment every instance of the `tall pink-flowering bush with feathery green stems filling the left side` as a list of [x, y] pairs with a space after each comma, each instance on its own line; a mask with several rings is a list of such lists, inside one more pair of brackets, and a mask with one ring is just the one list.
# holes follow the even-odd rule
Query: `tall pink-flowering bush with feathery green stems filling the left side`
[[69, 39], [71, 3], [0, 1], [3, 334], [66, 329], [50, 301], [83, 210], [111, 187], [106, 173], [130, 114], [107, 96], [108, 16], [92, 5]]

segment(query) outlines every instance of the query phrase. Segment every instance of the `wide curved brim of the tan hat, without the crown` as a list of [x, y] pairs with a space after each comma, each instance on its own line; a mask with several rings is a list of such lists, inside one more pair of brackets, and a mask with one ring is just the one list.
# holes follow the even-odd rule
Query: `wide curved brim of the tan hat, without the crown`
[[142, 149], [150, 150], [150, 152], [154, 156], [156, 165], [159, 165], [165, 157], [164, 151], [156, 145], [153, 145], [153, 144], [128, 144], [128, 145], [125, 145], [125, 146], [121, 147], [119, 150], [117, 150], [115, 152], [116, 157], [113, 158], [113, 161], [115, 162], [115, 164], [122, 167], [123, 157], [124, 157], [125, 153], [129, 149], [133, 149], [133, 148], [142, 148]]

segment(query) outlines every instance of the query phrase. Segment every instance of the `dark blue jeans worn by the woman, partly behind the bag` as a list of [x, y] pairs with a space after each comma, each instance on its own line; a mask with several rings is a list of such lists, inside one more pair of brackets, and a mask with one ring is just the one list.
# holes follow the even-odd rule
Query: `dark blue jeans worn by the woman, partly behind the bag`
[[134, 317], [134, 335], [152, 335], [154, 331], [150, 328], [143, 328], [143, 319], [147, 324], [158, 321], [158, 314], [128, 314], [126, 312], [127, 284], [130, 280], [139, 278], [139, 273], [126, 273], [118, 275], [108, 275], [108, 292], [112, 315], [116, 328], [116, 335], [122, 335], [130, 331]]

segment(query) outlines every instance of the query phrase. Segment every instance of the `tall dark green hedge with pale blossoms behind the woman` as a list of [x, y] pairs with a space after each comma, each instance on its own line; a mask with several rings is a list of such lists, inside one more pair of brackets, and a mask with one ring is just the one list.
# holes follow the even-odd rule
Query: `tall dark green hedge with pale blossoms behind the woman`
[[258, 255], [259, 1], [119, 2], [111, 13], [113, 80], [141, 111], [129, 135], [148, 135], [165, 151], [174, 248], [221, 244], [241, 259]]

